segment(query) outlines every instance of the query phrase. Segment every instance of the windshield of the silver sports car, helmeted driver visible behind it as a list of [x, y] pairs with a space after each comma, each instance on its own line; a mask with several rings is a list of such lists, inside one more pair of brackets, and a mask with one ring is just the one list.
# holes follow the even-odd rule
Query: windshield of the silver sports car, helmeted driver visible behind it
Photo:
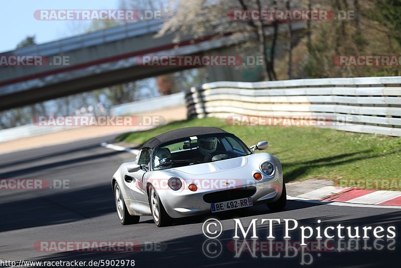
[[221, 161], [249, 155], [248, 147], [234, 135], [193, 136], [165, 143], [152, 154], [153, 170]]

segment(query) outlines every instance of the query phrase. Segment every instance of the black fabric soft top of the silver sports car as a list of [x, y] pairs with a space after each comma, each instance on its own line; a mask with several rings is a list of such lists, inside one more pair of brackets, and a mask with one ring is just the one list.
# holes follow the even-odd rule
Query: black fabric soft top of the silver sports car
[[147, 141], [142, 148], [153, 149], [159, 144], [163, 144], [169, 141], [178, 140], [182, 138], [197, 136], [197, 135], [208, 135], [208, 134], [218, 134], [218, 133], [228, 133], [221, 128], [212, 126], [190, 126], [182, 127], [174, 130], [164, 132], [156, 137], [151, 138]]

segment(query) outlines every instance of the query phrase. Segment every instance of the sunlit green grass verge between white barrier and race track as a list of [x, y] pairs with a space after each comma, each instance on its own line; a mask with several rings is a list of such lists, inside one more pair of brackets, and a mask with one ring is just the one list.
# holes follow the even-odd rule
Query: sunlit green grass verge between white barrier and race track
[[248, 146], [268, 141], [270, 154], [283, 165], [286, 182], [304, 179], [399, 179], [401, 138], [374, 136], [319, 127], [230, 126], [217, 118], [175, 121], [117, 138], [140, 145], [165, 131], [185, 126], [217, 126]]

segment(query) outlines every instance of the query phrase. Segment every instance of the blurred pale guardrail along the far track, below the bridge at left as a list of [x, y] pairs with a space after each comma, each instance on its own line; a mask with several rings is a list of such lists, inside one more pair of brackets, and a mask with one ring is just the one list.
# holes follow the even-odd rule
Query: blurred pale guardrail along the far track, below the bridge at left
[[[134, 101], [111, 107], [111, 115], [135, 114], [139, 112], [153, 111], [166, 107], [184, 104], [184, 92], [153, 99]], [[37, 126], [35, 124], [21, 125], [0, 130], [0, 143], [21, 138], [43, 135], [51, 132], [62, 131], [80, 126]]]

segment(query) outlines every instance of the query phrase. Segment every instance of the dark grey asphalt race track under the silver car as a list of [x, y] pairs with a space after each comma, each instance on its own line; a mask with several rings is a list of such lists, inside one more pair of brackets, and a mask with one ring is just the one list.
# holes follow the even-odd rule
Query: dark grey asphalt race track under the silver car
[[[290, 267], [302, 263], [303, 267], [399, 267], [401, 211], [397, 209], [288, 201], [285, 211], [275, 213], [260, 205], [180, 220], [164, 228], [156, 227], [151, 217], [141, 217], [136, 225], [122, 226], [115, 212], [110, 179], [119, 164], [132, 161], [134, 155], [100, 146], [112, 139], [108, 136], [0, 156], [2, 179], [70, 182], [70, 189], [0, 190], [0, 259], [134, 259], [135, 267]], [[219, 218], [223, 224], [219, 240], [208, 239], [203, 234], [203, 222], [211, 217]], [[360, 238], [355, 241], [334, 239], [328, 242], [330, 248], [335, 248], [330, 250], [302, 251], [298, 247], [286, 252], [276, 244], [272, 252], [263, 249], [237, 252], [233, 218], [241, 218], [244, 226], [258, 218], [261, 243], [268, 241], [267, 223], [260, 224], [262, 218], [292, 218], [300, 225], [312, 227], [317, 226], [319, 219], [321, 226], [339, 223], [359, 228], [395, 225], [397, 236], [395, 239]], [[284, 242], [283, 232], [283, 226], [275, 226], [276, 243]], [[293, 232], [291, 238], [289, 242], [299, 241], [299, 231]], [[35, 248], [37, 241], [137, 241], [142, 246], [135, 251], [49, 252]]]

